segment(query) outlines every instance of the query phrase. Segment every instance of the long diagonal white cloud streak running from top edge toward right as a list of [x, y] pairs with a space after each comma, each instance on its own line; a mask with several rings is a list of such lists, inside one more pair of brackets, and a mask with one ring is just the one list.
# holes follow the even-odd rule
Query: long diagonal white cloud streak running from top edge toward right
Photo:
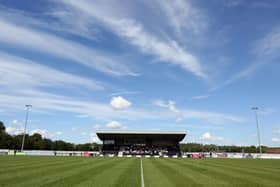
[[122, 16], [122, 12], [109, 11], [108, 4], [89, 3], [88, 1], [63, 1], [64, 6], [72, 8], [72, 12], [85, 14], [98, 20], [113, 33], [136, 46], [145, 54], [154, 55], [159, 61], [180, 66], [198, 77], [207, 79], [198, 58], [181, 48], [176, 41], [166, 41], [148, 32], [144, 26], [133, 18]]

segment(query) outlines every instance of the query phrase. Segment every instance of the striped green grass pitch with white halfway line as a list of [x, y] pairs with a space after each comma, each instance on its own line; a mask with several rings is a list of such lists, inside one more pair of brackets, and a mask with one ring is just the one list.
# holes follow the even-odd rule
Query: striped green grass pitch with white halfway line
[[[145, 187], [280, 186], [280, 160], [142, 158]], [[141, 186], [140, 158], [1, 156], [0, 186]]]

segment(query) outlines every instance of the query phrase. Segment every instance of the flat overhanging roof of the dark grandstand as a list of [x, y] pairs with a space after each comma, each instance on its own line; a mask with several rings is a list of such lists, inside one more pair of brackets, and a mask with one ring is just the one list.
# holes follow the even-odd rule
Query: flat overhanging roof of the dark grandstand
[[115, 139], [120, 137], [144, 137], [182, 141], [186, 136], [186, 133], [181, 131], [97, 131], [96, 134], [100, 140]]

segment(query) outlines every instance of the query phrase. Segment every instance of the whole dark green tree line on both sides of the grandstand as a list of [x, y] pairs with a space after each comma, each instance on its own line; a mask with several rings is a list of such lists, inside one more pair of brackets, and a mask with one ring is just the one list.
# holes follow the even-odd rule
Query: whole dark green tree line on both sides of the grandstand
[[[20, 150], [22, 142], [22, 134], [10, 135], [6, 132], [4, 123], [0, 121], [0, 149]], [[27, 150], [65, 150], [65, 151], [100, 151], [102, 145], [97, 143], [74, 144], [62, 140], [51, 140], [43, 138], [42, 135], [35, 133], [33, 135], [26, 134], [24, 149]], [[214, 144], [199, 143], [183, 143], [180, 144], [183, 152], [235, 152], [235, 153], [257, 153], [259, 148], [256, 146], [228, 146]], [[268, 147], [262, 146], [265, 153]]]

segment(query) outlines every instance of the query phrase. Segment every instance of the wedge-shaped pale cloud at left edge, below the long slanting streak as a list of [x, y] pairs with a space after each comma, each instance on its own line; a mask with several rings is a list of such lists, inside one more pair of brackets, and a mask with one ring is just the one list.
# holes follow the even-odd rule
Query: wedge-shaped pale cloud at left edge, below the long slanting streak
[[[51, 76], [50, 76], [51, 75]], [[65, 73], [33, 61], [0, 52], [0, 85], [6, 89], [83, 87], [104, 89], [99, 81]], [[6, 90], [7, 91], [7, 90]]]

